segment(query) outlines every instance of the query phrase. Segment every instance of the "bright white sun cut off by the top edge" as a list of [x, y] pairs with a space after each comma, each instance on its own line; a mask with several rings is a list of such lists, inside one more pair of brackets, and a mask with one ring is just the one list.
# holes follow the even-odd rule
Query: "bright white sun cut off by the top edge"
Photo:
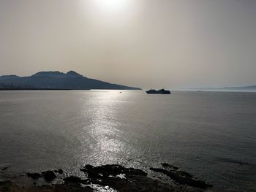
[[95, 6], [102, 11], [106, 12], [121, 12], [123, 11], [128, 3], [129, 0], [92, 0], [94, 1]]

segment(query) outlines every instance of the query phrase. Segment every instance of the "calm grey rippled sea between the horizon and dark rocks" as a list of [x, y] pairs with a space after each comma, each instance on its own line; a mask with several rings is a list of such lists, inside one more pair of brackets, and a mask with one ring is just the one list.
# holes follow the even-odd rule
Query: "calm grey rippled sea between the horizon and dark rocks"
[[0, 165], [12, 176], [161, 162], [212, 191], [256, 191], [256, 93], [0, 92]]

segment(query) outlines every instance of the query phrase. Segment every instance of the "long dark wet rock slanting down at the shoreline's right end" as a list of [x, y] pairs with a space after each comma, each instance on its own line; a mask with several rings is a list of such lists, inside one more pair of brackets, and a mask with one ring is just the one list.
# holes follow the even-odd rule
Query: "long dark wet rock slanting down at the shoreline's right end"
[[170, 177], [172, 180], [175, 180], [179, 184], [189, 185], [194, 188], [203, 188], [203, 189], [212, 187], [212, 185], [209, 185], [204, 181], [194, 180], [192, 178], [192, 175], [188, 174], [187, 172], [181, 172], [181, 171], [174, 172], [174, 171], [167, 171], [165, 169], [159, 169], [159, 168], [150, 168], [150, 169], [151, 171], [159, 172], [167, 175], [168, 177]]

